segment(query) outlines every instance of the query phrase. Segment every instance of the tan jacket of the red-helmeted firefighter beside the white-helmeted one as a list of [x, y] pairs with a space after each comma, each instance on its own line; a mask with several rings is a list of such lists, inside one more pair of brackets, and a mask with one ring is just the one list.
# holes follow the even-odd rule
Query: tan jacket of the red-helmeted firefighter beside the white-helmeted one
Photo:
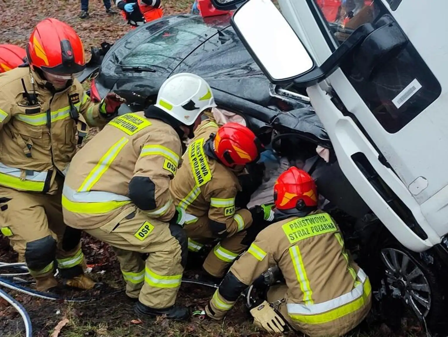
[[252, 216], [246, 209], [235, 211], [235, 196], [241, 190], [235, 173], [205, 154], [204, 144], [216, 130], [215, 122], [202, 121], [171, 181], [170, 191], [174, 203], [186, 212], [185, 226], [205, 216], [211, 232], [224, 238], [244, 229]]

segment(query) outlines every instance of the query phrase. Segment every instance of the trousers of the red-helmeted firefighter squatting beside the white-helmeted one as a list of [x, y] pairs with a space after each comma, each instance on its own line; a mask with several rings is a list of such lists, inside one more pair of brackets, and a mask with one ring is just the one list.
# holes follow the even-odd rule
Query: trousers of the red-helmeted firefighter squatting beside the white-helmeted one
[[[184, 226], [188, 236], [188, 249], [190, 251], [199, 251], [204, 244], [213, 242], [216, 239], [216, 236], [210, 230], [208, 221], [208, 217], [203, 216], [194, 224]], [[204, 270], [211, 276], [218, 278], [224, 277], [226, 269], [230, 264], [233, 263], [242, 251], [247, 249], [247, 245], [241, 244], [245, 236], [246, 231], [243, 230], [220, 240], [202, 264]]]

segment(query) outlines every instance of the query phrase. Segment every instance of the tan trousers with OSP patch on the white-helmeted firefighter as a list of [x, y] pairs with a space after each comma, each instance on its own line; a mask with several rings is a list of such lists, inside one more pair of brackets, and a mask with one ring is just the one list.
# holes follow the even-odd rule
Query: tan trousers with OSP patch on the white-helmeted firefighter
[[[156, 309], [174, 305], [188, 253], [179, 225], [151, 219], [133, 206], [107, 224], [85, 231], [113, 247], [129, 297]], [[146, 261], [145, 253], [149, 253]]]

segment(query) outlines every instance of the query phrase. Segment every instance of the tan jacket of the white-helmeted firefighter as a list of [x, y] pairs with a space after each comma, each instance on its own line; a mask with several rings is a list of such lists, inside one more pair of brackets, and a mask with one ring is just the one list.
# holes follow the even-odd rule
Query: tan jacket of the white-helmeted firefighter
[[169, 181], [181, 154], [178, 134], [163, 121], [143, 112], [115, 117], [73, 157], [62, 192], [65, 223], [98, 228], [135, 206], [171, 220]]

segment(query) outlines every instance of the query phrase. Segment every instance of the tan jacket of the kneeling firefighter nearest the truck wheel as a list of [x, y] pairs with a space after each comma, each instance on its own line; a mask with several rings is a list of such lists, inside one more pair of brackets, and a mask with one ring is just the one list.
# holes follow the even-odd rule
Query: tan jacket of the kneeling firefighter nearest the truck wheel
[[[294, 216], [268, 226], [229, 273], [244, 289], [275, 265], [288, 286], [284, 311], [293, 327], [303, 333], [344, 334], [370, 310], [369, 278], [353, 262], [345, 250], [339, 227], [325, 212], [317, 211], [302, 218]], [[222, 286], [215, 292], [210, 302], [215, 313], [230, 310], [235, 302], [226, 300], [222, 294], [231, 292]]]

